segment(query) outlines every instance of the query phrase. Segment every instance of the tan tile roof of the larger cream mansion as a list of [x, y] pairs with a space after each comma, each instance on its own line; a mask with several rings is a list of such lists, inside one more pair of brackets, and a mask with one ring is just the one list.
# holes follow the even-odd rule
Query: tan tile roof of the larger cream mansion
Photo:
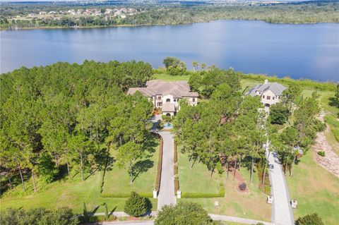
[[136, 91], [139, 91], [147, 97], [155, 95], [172, 95], [174, 98], [198, 97], [197, 92], [191, 92], [186, 81], [148, 80], [146, 86], [131, 87], [127, 95], [133, 95]]

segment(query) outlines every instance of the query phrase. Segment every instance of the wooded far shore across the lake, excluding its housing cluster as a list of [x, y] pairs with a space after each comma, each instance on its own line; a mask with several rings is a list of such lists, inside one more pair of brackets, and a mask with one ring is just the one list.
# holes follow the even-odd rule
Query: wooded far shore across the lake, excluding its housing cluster
[[[129, 5], [121, 5], [129, 7]], [[25, 18], [28, 13], [39, 11], [59, 11], [59, 9], [99, 8], [107, 6], [59, 6], [58, 4], [8, 4], [1, 8], [0, 27], [2, 29], [20, 28], [69, 28], [69, 27], [107, 27], [115, 25], [175, 25], [200, 23], [211, 20], [263, 20], [267, 23], [339, 23], [338, 1], [309, 1], [290, 4], [225, 6], [218, 4], [164, 4], [162, 8], [146, 4], [133, 6], [143, 12], [119, 18], [115, 16], [44, 16]], [[19, 17], [16, 17], [19, 16]], [[20, 18], [21, 17], [21, 18]]]

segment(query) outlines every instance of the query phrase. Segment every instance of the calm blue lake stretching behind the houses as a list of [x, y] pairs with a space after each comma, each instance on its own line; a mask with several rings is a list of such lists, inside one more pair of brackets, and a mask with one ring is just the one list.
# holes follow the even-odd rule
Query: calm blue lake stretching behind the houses
[[176, 56], [244, 73], [339, 80], [339, 24], [227, 21], [128, 28], [1, 31], [1, 73], [57, 61], [147, 61]]

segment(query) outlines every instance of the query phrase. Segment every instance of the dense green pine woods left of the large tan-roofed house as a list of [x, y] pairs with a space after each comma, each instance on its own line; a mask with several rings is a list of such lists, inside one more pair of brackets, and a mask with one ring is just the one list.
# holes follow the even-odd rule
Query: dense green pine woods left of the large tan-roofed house
[[[103, 170], [116, 161], [133, 172], [150, 135], [153, 106], [141, 95], [152, 67], [143, 62], [54, 63], [1, 74], [1, 193], [31, 177], [50, 183], [62, 176]], [[129, 149], [129, 151], [126, 151]], [[133, 150], [133, 154], [131, 154]]]

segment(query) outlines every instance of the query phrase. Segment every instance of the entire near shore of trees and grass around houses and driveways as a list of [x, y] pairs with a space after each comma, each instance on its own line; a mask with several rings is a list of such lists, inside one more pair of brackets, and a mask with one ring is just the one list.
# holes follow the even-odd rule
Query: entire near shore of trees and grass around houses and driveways
[[[186, 210], [182, 202], [197, 202], [208, 213], [270, 221], [263, 149], [269, 138], [290, 195], [299, 201], [295, 219], [317, 212], [326, 224], [338, 221], [333, 210], [339, 179], [314, 161], [320, 150], [311, 150], [317, 132], [338, 150], [337, 84], [243, 74], [197, 62], [194, 71], [186, 71], [175, 58], [167, 58], [165, 66], [85, 61], [1, 74], [1, 212], [44, 207], [54, 215], [52, 209], [69, 207], [83, 216], [107, 211], [139, 216], [143, 210], [126, 205], [147, 202], [143, 197], [150, 198], [148, 212], [159, 211], [152, 197], [159, 186], [162, 140], [152, 133], [150, 117], [161, 109], [139, 91], [126, 93], [160, 79], [184, 80], [198, 93], [198, 104], [181, 101], [176, 115], [164, 118], [174, 125], [173, 182], [182, 191], [178, 209], [167, 208], [168, 213]], [[263, 95], [247, 95], [265, 80], [286, 87], [270, 113]], [[210, 222], [201, 207], [191, 207]]]

